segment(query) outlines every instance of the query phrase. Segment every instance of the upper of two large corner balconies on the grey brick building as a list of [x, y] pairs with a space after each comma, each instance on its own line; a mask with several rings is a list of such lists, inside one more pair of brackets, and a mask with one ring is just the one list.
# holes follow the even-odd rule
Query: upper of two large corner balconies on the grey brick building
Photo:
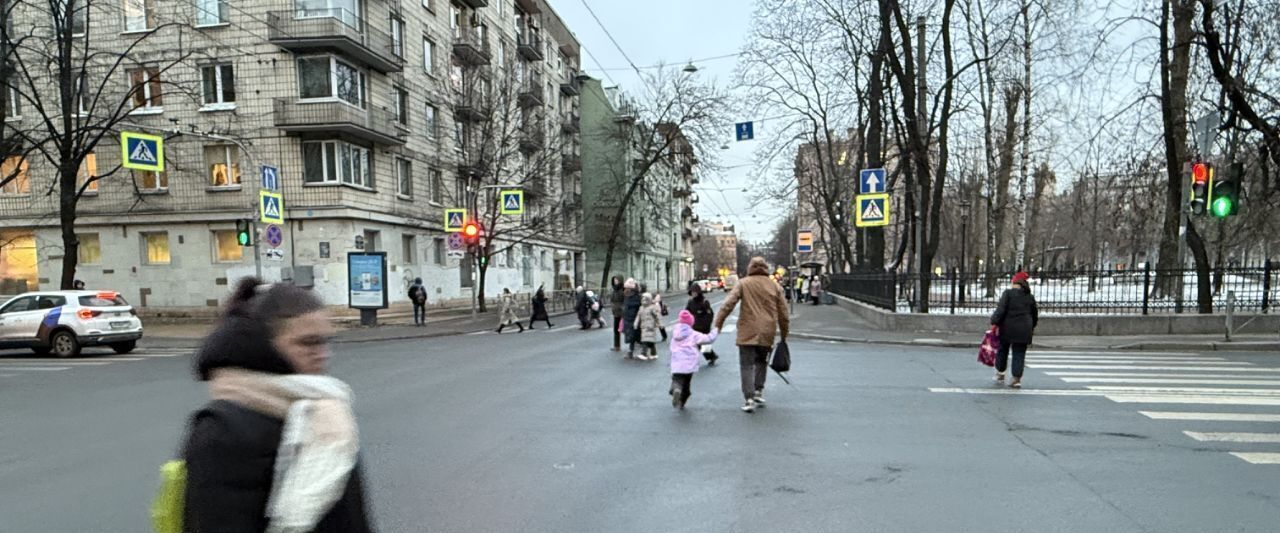
[[346, 9], [269, 12], [268, 38], [296, 53], [337, 51], [381, 73], [404, 69], [392, 37]]

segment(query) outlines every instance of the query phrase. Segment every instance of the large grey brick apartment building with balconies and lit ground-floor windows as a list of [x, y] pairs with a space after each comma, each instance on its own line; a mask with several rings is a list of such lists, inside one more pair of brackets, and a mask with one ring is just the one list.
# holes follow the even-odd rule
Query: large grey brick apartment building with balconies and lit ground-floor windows
[[[0, 293], [56, 288], [70, 252], [91, 288], [142, 306], [215, 306], [256, 270], [234, 228], [256, 217], [261, 165], [279, 168], [285, 215], [279, 252], [259, 258], [264, 277], [314, 287], [328, 304], [347, 304], [346, 256], [356, 251], [387, 252], [392, 301], [404, 300], [416, 277], [433, 302], [470, 297], [472, 259], [451, 254], [444, 209], [479, 218], [504, 187], [525, 190], [526, 214], [492, 223], [507, 231], [489, 258], [488, 287], [520, 292], [581, 278], [580, 45], [545, 0], [116, 0], [84, 9], [87, 46], [138, 40], [124, 68], [84, 77], [129, 105], [119, 131], [166, 137], [165, 170], [116, 169], [118, 140], [104, 140], [82, 174], [109, 176], [86, 184], [79, 247], [64, 250], [58, 195], [44, 193], [54, 169], [6, 160], [23, 176], [0, 190]], [[18, 92], [6, 124], [32, 127], [38, 97]]]

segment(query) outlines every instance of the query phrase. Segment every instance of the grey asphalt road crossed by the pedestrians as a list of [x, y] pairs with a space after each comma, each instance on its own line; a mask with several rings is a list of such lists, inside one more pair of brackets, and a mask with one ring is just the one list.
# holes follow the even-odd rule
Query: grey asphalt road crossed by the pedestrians
[[[1025, 390], [1007, 393], [970, 350], [795, 341], [794, 386], [771, 375], [767, 409], [739, 411], [730, 360], [694, 378], [680, 413], [666, 393], [666, 357], [625, 361], [608, 350], [608, 331], [559, 322], [550, 332], [335, 347], [333, 374], [357, 395], [379, 530], [1277, 527], [1280, 465], [1229, 454], [1280, 451], [1243, 442], [1267, 441], [1280, 425], [1275, 356], [1033, 351], [1041, 368], [1028, 370]], [[732, 334], [717, 347], [732, 355]], [[156, 469], [204, 401], [189, 366], [188, 355], [160, 348], [70, 363], [0, 354], [0, 532], [148, 530]], [[1206, 384], [1065, 382], [1047, 372]], [[1166, 387], [1242, 392], [1193, 405], [1208, 393]], [[1152, 411], [1234, 413], [1243, 422]], [[1277, 419], [1258, 422], [1268, 416]]]

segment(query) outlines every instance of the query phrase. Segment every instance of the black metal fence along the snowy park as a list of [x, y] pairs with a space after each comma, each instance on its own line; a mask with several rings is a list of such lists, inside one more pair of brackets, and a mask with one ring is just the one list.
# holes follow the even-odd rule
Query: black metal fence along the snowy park
[[[927, 274], [928, 311], [987, 314], [1009, 286], [1011, 272]], [[868, 305], [897, 313], [919, 313], [916, 275], [896, 273], [835, 274], [828, 290]], [[1197, 313], [1199, 275], [1175, 270], [1041, 270], [1030, 287], [1041, 313], [1047, 314], [1169, 314]], [[1234, 299], [1238, 311], [1271, 313], [1280, 299], [1280, 264], [1213, 269], [1208, 277], [1213, 310]], [[1179, 295], [1181, 297], [1179, 297]]]

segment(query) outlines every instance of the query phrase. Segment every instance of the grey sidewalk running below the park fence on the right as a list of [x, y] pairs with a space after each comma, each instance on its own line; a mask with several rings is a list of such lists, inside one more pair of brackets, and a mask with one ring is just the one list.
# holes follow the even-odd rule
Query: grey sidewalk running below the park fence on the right
[[[836, 305], [796, 305], [791, 336], [814, 341], [870, 345], [941, 346], [978, 348], [984, 332], [973, 334], [936, 332], [888, 332], [873, 328]], [[1050, 318], [1052, 319], [1052, 318]], [[1140, 351], [1270, 351], [1280, 354], [1280, 336], [1245, 334], [1226, 342], [1224, 336], [1125, 336], [1125, 337], [1036, 337], [1037, 348], [1050, 350], [1140, 350]]]

